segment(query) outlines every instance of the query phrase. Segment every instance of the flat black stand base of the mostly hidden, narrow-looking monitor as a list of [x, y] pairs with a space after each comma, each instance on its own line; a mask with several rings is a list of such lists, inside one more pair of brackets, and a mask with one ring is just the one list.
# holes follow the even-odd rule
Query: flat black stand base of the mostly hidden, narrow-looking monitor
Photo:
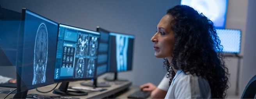
[[83, 86], [89, 86], [89, 87], [110, 87], [111, 85], [102, 82], [102, 83], [98, 83], [97, 78], [93, 79], [93, 82], [84, 82], [84, 83], [80, 83]]

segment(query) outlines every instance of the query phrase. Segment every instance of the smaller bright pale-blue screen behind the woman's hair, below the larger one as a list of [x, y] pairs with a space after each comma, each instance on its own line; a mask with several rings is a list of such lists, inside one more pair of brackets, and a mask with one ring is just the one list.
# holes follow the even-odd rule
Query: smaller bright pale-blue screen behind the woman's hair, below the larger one
[[241, 31], [233, 29], [216, 29], [224, 53], [240, 53]]

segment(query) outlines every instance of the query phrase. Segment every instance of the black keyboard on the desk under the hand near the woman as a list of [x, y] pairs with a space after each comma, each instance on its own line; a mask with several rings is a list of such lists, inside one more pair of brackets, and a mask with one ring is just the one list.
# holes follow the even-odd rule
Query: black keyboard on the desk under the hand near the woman
[[128, 98], [132, 98], [132, 99], [146, 99], [150, 96], [150, 91], [141, 91], [138, 90], [130, 95], [128, 95]]

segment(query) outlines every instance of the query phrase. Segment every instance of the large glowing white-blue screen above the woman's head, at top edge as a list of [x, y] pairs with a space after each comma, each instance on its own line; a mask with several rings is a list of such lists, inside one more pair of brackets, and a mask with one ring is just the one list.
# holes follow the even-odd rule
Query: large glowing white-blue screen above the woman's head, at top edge
[[181, 0], [181, 4], [203, 13], [213, 21], [215, 28], [225, 28], [228, 0]]

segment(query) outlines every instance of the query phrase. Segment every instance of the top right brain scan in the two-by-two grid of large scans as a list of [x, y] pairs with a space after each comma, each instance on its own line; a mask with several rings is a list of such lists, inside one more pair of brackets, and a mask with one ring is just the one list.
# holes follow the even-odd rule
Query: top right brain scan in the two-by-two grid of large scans
[[98, 41], [97, 37], [92, 37], [90, 41], [90, 55], [95, 56], [96, 55], [96, 49], [98, 48]]

